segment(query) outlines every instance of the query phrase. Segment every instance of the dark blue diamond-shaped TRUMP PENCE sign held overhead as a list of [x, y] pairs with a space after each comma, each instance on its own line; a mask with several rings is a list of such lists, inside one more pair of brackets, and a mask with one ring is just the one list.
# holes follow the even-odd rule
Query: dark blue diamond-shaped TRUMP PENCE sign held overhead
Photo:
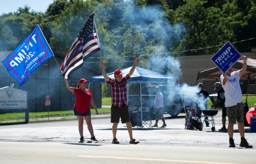
[[232, 46], [230, 42], [227, 42], [213, 57], [211, 60], [216, 66], [225, 74], [235, 62], [241, 58], [241, 54]]

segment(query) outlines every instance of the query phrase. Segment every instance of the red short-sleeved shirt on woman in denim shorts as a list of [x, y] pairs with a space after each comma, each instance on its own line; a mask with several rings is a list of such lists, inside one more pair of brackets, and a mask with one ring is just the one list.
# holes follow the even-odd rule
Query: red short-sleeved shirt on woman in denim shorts
[[74, 109], [79, 113], [87, 113], [90, 110], [91, 91], [86, 89], [86, 93], [80, 88], [74, 88], [75, 105]]

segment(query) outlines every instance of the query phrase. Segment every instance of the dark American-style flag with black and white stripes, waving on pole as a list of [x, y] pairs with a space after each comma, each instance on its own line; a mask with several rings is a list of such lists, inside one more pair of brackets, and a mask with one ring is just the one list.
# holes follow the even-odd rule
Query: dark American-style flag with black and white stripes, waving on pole
[[94, 13], [86, 20], [67, 53], [60, 71], [62, 77], [70, 79], [72, 72], [82, 67], [83, 61], [100, 50]]

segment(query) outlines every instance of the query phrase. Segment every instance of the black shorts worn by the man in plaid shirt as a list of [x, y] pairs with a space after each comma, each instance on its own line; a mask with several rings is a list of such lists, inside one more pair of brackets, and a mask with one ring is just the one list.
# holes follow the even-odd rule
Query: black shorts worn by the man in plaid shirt
[[125, 107], [111, 106], [111, 121], [112, 123], [119, 123], [121, 117], [122, 123], [131, 122], [128, 105]]

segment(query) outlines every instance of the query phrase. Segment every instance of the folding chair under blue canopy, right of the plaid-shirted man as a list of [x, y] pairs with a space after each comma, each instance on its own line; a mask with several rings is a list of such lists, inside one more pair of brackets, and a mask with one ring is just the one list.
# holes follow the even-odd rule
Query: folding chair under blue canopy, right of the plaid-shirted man
[[147, 127], [149, 129], [152, 127], [152, 113], [149, 110], [149, 107], [139, 107], [137, 114], [137, 128]]

